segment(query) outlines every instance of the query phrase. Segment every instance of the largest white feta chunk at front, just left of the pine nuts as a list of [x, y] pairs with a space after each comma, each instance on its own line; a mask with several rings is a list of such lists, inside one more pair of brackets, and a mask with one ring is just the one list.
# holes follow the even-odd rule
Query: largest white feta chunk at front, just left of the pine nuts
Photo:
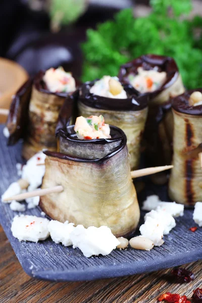
[[70, 233], [73, 248], [78, 247], [85, 257], [106, 256], [120, 244], [107, 226], [99, 228], [90, 226], [87, 229], [83, 225], [77, 225]]

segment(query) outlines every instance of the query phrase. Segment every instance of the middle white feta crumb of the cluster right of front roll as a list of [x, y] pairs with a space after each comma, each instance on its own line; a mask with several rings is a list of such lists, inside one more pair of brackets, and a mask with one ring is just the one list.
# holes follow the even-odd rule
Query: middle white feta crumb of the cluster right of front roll
[[164, 231], [163, 231], [164, 235], [169, 234], [171, 229], [176, 226], [175, 219], [167, 212], [163, 212], [163, 211], [157, 212], [152, 210], [144, 216], [144, 220], [146, 221], [148, 217], [157, 220], [158, 223], [164, 226]]

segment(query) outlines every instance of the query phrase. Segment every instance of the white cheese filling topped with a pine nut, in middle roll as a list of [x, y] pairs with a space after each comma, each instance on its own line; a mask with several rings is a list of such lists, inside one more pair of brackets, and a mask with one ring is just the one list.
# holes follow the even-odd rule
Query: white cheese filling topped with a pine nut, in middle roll
[[117, 77], [104, 76], [90, 88], [90, 93], [98, 96], [126, 99], [127, 94]]

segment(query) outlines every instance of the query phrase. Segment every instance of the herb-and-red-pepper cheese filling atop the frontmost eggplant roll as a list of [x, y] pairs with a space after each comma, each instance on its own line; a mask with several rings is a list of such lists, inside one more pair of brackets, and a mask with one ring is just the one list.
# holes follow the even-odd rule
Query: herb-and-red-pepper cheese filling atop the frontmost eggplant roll
[[90, 116], [88, 118], [78, 117], [74, 130], [79, 139], [111, 138], [110, 126], [109, 124], [105, 124], [105, 119], [102, 115], [99, 117]]

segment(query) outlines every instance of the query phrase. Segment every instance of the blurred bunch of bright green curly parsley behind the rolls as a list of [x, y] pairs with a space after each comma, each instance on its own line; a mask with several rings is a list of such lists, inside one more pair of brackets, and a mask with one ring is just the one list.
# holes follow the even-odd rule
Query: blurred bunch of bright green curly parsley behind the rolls
[[[150, 0], [153, 11], [147, 17], [134, 18], [126, 9], [113, 21], [87, 30], [83, 81], [116, 76], [122, 64], [143, 54], [173, 57], [187, 88], [201, 86], [202, 18], [186, 19], [190, 0]], [[195, 35], [197, 29], [198, 35]]]

